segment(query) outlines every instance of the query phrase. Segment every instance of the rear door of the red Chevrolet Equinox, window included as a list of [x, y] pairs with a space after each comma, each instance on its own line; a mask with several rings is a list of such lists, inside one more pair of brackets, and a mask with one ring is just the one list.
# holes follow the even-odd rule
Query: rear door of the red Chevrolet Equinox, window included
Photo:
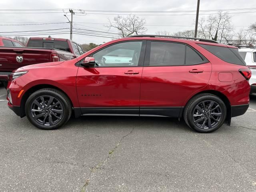
[[211, 63], [194, 48], [148, 41], [140, 90], [140, 115], [178, 117], [184, 101], [208, 84]]

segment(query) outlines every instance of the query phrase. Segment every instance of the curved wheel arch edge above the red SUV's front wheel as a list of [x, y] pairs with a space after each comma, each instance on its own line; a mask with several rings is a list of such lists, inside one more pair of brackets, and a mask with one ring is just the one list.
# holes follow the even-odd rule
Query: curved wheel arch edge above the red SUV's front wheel
[[35, 86], [32, 86], [31, 88], [29, 88], [29, 89], [26, 90], [26, 92], [23, 94], [22, 99], [21, 99], [21, 102], [20, 102], [20, 114], [21, 114], [21, 117], [26, 116], [26, 113], [25, 113], [25, 104], [26, 104], [26, 101], [27, 101], [28, 97], [29, 97], [32, 93], [34, 93], [35, 91], [40, 90], [40, 89], [43, 89], [43, 88], [53, 88], [53, 89], [56, 89], [56, 90], [62, 92], [62, 93], [65, 94], [65, 95], [67, 96], [67, 98], [70, 100], [70, 103], [71, 103], [72, 107], [74, 106], [73, 103], [72, 103], [72, 100], [70, 99], [70, 97], [68, 96], [68, 94], [66, 94], [66, 92], [64, 92], [62, 89], [58, 88], [57, 86], [51, 85], [51, 84], [38, 84], [38, 85], [35, 85]]

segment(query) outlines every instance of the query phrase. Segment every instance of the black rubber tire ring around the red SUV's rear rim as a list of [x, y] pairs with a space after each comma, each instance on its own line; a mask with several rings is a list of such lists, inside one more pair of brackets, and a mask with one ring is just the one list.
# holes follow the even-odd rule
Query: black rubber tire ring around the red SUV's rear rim
[[[221, 107], [221, 110], [222, 110], [222, 113], [223, 113], [223, 116], [219, 122], [219, 124], [217, 126], [215, 126], [214, 128], [211, 128], [211, 129], [202, 129], [202, 128], [199, 128], [193, 121], [193, 112], [194, 112], [194, 108], [202, 101], [206, 101], [206, 100], [213, 100], [215, 102], [217, 102], [220, 107]], [[217, 96], [214, 96], [214, 95], [205, 95], [205, 96], [202, 96], [202, 97], [199, 97], [197, 98], [196, 100], [194, 100], [192, 102], [192, 105], [190, 106], [190, 108], [188, 109], [188, 123], [189, 123], [189, 126], [198, 131], [198, 132], [202, 132], [202, 133], [208, 133], [208, 132], [213, 132], [215, 130], [217, 130], [218, 128], [220, 128], [222, 126], [222, 124], [224, 123], [225, 119], [226, 119], [226, 114], [227, 114], [227, 110], [226, 110], [226, 105], [224, 104], [224, 102], [218, 98]]]

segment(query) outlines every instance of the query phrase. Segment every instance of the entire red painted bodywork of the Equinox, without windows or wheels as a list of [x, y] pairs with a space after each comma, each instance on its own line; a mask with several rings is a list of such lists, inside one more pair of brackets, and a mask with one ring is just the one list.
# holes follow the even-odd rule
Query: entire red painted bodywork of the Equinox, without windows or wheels
[[[131, 39], [163, 40], [148, 37], [123, 38], [98, 46], [73, 60], [19, 68], [17, 71], [28, 72], [8, 84], [13, 105], [20, 106], [25, 92], [40, 84], [49, 84], [63, 90], [72, 101], [73, 107], [77, 108], [182, 107], [194, 95], [208, 90], [224, 94], [232, 106], [249, 103], [250, 85], [238, 71], [248, 67], [224, 62], [198, 45], [226, 46], [222, 44], [164, 38], [165, 41], [182, 42], [198, 50], [209, 61], [198, 65], [91, 68], [75, 66], [78, 61], [105, 46]], [[190, 73], [193, 69], [203, 72]], [[128, 70], [139, 73], [125, 74]], [[231, 73], [232, 80], [221, 82], [219, 74], [222, 72]], [[22, 89], [24, 92], [17, 98]]]

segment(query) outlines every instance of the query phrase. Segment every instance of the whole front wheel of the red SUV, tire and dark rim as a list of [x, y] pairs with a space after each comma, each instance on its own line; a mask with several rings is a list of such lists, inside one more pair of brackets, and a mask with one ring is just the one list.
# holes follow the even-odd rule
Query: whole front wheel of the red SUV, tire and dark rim
[[72, 105], [63, 92], [44, 88], [28, 97], [25, 112], [28, 120], [37, 128], [53, 130], [68, 122]]

